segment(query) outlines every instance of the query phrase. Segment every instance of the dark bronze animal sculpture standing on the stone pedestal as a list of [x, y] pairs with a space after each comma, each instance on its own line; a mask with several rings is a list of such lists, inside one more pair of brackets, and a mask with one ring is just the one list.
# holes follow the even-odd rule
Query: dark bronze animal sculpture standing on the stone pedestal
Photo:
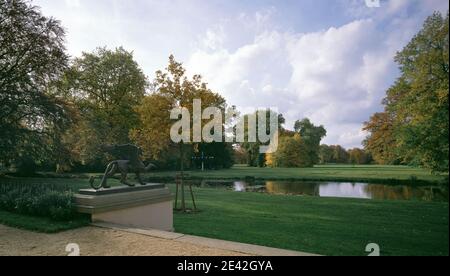
[[130, 187], [135, 186], [135, 184], [127, 182], [128, 173], [135, 173], [139, 184], [145, 185], [145, 182], [142, 181], [141, 173], [147, 173], [151, 169], [156, 168], [156, 166], [152, 163], [145, 166], [140, 157], [142, 150], [135, 145], [104, 145], [101, 146], [101, 150], [110, 153], [115, 158], [118, 158], [118, 160], [112, 161], [108, 164], [100, 185], [95, 185], [95, 177], [92, 176], [90, 178], [89, 182], [91, 187], [95, 190], [110, 188], [107, 180], [118, 172], [121, 174], [120, 183], [123, 185]]

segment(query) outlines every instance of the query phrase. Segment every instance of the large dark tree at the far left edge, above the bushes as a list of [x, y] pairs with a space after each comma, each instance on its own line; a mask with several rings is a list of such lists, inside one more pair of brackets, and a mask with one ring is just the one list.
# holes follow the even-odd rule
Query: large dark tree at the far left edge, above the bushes
[[67, 68], [64, 30], [28, 1], [0, 1], [0, 162], [46, 156], [71, 123], [60, 91]]

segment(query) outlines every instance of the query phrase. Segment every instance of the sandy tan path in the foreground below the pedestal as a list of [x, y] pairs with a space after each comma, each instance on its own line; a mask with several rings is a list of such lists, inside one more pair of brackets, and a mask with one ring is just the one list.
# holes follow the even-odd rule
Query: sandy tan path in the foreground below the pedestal
[[64, 256], [77, 243], [82, 256], [240, 256], [241, 253], [116, 230], [84, 227], [41, 234], [0, 225], [0, 256]]

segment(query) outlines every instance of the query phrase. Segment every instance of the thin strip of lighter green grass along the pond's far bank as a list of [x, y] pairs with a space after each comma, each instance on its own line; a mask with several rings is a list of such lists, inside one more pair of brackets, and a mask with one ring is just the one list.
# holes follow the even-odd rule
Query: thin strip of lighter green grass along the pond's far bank
[[[314, 168], [251, 168], [234, 166], [228, 170], [190, 171], [193, 178], [244, 179], [254, 177], [260, 180], [321, 180], [321, 181], [355, 181], [382, 183], [441, 182], [448, 174], [434, 175], [420, 168], [406, 166], [352, 166], [324, 165]], [[174, 177], [174, 172], [157, 172], [150, 177]], [[413, 180], [412, 180], [413, 179]]]

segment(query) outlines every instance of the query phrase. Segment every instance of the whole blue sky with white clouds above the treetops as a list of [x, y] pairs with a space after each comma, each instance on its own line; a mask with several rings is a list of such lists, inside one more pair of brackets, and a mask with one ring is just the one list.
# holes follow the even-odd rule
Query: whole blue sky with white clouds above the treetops
[[[373, 5], [377, 4], [379, 5]], [[34, 0], [72, 57], [123, 46], [152, 80], [173, 54], [229, 105], [308, 117], [326, 144], [361, 147], [394, 62], [447, 0]], [[372, 5], [367, 5], [371, 3]]]

